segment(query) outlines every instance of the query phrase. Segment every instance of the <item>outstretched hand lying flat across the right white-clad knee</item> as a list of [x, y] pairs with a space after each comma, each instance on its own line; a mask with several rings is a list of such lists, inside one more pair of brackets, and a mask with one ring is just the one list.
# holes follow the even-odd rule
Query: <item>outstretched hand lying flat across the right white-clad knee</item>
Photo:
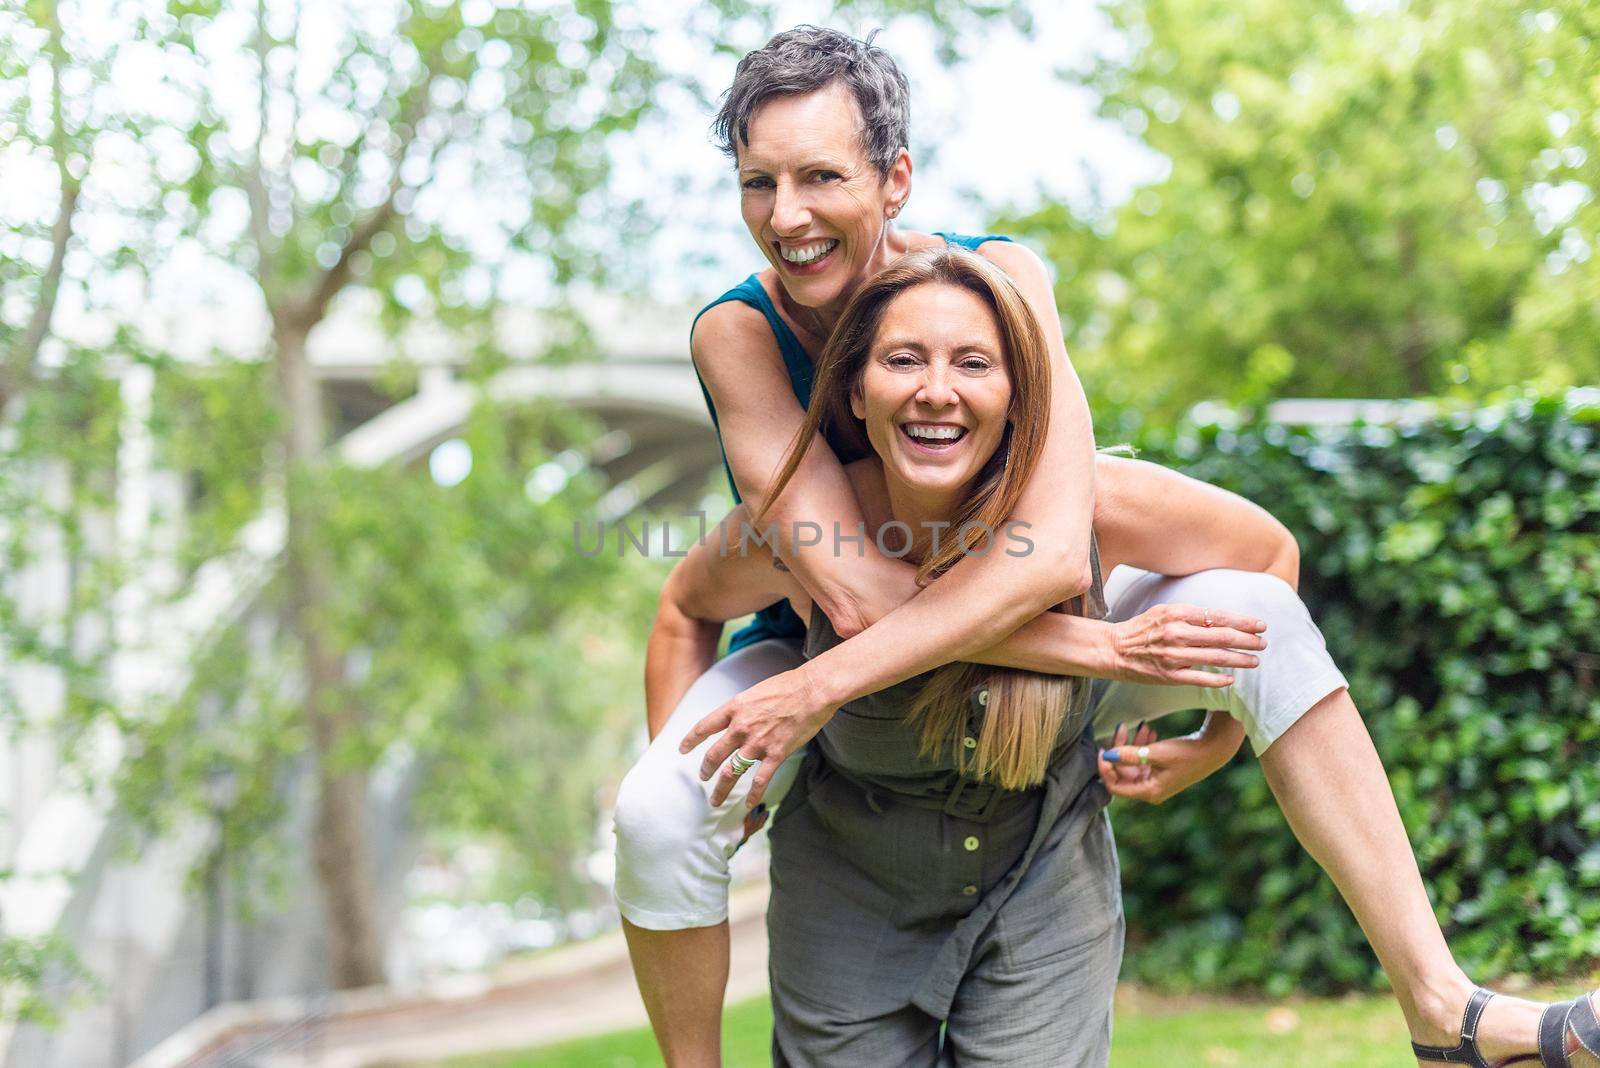
[[1259, 619], [1195, 608], [1157, 604], [1112, 627], [1112, 665], [1106, 678], [1160, 686], [1232, 686], [1234, 676], [1213, 668], [1253, 668], [1251, 652], [1267, 648]]

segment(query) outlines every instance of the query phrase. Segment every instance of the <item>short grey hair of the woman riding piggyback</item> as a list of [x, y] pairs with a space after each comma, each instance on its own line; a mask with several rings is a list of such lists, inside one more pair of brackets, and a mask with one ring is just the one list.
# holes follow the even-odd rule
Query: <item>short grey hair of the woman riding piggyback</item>
[[730, 160], [750, 142], [750, 115], [776, 96], [814, 93], [843, 82], [861, 109], [861, 149], [888, 174], [910, 141], [910, 86], [886, 51], [821, 26], [797, 26], [744, 56], [723, 94], [712, 136]]

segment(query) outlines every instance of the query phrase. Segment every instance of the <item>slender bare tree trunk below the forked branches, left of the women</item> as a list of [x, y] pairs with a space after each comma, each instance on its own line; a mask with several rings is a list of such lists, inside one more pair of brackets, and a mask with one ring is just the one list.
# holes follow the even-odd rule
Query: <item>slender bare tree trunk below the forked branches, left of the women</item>
[[384, 982], [378, 894], [366, 823], [366, 769], [352, 751], [360, 711], [326, 633], [331, 564], [320, 542], [317, 486], [322, 462], [322, 398], [306, 358], [310, 323], [275, 315], [278, 389], [285, 412], [288, 609], [304, 673], [304, 710], [317, 772], [312, 854], [328, 926], [328, 982], [336, 990]]

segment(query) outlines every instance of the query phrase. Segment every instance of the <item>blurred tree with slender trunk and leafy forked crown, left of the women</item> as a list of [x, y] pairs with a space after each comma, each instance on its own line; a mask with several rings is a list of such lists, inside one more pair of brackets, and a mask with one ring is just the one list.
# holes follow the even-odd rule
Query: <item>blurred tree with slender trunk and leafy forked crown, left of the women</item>
[[382, 505], [326, 492], [328, 411], [307, 339], [341, 291], [362, 288], [390, 318], [429, 315], [469, 350], [488, 345], [496, 259], [546, 251], [555, 280], [582, 259], [565, 230], [603, 179], [605, 137], [637, 122], [658, 70], [642, 29], [584, 0], [171, 3], [141, 32], [160, 48], [162, 82], [186, 90], [171, 118], [184, 136], [165, 145], [178, 158], [157, 165], [187, 200], [168, 203], [168, 224], [243, 273], [270, 321], [283, 598], [315, 766], [330, 978], [378, 983], [363, 822], [381, 750], [347, 678], [350, 643], [333, 625], [341, 577], [328, 515]]

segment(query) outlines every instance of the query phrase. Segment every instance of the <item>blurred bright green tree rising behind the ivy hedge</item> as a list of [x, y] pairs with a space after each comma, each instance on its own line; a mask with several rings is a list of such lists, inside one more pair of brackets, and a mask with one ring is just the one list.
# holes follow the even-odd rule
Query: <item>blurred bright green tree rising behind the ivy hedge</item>
[[1400, 397], [1600, 377], [1600, 14], [1557, 2], [1109, 0], [1069, 72], [1168, 163], [1002, 225], [1106, 398]]

